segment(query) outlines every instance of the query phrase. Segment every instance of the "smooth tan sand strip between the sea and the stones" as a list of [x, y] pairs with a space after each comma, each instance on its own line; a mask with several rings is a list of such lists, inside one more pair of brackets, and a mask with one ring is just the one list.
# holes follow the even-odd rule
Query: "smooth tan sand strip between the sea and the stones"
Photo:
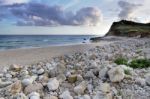
[[[103, 41], [99, 43], [50, 46], [44, 48], [13, 49], [0, 51], [0, 68], [11, 64], [28, 65], [40, 61], [50, 60], [53, 57], [84, 52], [95, 46], [107, 44]], [[1, 69], [2, 70], [2, 69]]]

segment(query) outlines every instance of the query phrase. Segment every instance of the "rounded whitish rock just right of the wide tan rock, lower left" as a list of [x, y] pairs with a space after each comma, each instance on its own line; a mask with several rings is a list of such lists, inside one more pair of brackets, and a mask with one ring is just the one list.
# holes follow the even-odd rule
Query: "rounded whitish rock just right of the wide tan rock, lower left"
[[59, 81], [56, 78], [51, 78], [47, 83], [47, 87], [50, 91], [56, 90], [59, 87]]

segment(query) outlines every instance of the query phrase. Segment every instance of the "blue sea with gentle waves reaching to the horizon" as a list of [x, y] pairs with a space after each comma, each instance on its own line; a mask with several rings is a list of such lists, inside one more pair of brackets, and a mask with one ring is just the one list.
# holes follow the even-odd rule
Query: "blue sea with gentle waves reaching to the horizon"
[[92, 35], [0, 35], [0, 50], [72, 45], [89, 42]]

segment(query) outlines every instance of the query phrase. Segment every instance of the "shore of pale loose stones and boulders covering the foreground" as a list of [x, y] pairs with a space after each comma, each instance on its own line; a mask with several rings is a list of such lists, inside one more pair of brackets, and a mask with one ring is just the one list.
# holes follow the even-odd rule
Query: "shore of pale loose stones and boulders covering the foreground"
[[117, 65], [119, 56], [150, 58], [150, 39], [117, 41], [30, 66], [13, 64], [0, 73], [0, 99], [150, 99], [150, 67]]

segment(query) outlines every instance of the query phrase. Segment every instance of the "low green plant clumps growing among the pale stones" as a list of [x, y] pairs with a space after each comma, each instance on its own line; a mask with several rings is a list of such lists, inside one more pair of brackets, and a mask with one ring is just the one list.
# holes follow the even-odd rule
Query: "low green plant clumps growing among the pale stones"
[[[132, 68], [148, 68], [150, 67], [150, 59], [134, 59], [130, 63], [125, 58], [117, 58], [114, 61], [117, 65], [127, 65]], [[128, 74], [128, 71], [125, 71]]]

